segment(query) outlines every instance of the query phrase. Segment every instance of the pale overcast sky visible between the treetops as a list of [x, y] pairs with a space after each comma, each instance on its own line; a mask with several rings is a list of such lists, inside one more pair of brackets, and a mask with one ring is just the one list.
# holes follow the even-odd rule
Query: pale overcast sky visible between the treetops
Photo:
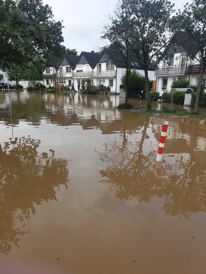
[[[170, 0], [175, 3], [176, 11], [183, 8], [184, 0]], [[43, 0], [54, 13], [56, 21], [62, 21], [64, 43], [70, 49], [76, 49], [78, 55], [91, 52], [102, 46], [100, 41], [103, 23], [109, 20], [105, 17], [112, 14], [117, 0]], [[188, 1], [190, 2], [190, 1]]]

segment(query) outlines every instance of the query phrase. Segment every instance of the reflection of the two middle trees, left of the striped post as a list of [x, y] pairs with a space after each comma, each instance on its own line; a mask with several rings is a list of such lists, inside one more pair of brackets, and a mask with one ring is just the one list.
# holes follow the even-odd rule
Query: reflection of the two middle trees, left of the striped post
[[140, 141], [129, 141], [125, 120], [120, 139], [111, 140], [108, 137], [104, 143], [104, 150], [95, 150], [107, 165], [105, 170], [100, 170], [101, 176], [107, 178], [101, 182], [106, 184], [107, 191], [113, 193], [115, 199], [119, 201], [136, 197], [140, 203], [150, 202], [151, 197], [156, 193], [156, 176], [153, 172], [155, 162], [150, 157], [152, 147], [148, 148], [147, 154], [143, 153], [148, 125], [149, 119], [144, 124]]

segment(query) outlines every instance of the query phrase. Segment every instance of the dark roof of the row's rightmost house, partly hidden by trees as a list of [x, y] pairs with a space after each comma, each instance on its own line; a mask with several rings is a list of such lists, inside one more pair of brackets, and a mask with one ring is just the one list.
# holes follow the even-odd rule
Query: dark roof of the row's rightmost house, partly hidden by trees
[[[125, 63], [124, 63], [124, 58], [123, 58], [121, 52], [119, 52], [118, 50], [115, 50], [115, 49], [108, 49], [108, 48], [105, 48], [103, 50], [102, 54], [100, 54], [100, 57], [95, 62], [93, 68], [97, 65], [97, 63], [99, 62], [100, 58], [103, 55], [106, 55], [108, 60], [111, 60], [116, 67], [126, 68]], [[138, 62], [137, 58], [135, 57], [135, 55], [130, 56], [130, 60], [131, 60], [131, 68], [132, 69], [143, 70], [143, 68], [140, 65], [138, 65], [139, 62]], [[151, 62], [149, 63], [148, 70], [149, 71], [155, 70], [155, 67], [152, 65]]]

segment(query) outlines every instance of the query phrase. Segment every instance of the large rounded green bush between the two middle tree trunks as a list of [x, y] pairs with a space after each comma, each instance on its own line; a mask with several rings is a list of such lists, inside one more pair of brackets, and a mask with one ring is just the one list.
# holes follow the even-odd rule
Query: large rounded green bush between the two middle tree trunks
[[[122, 76], [121, 83], [122, 88], [125, 89], [126, 73]], [[145, 77], [136, 71], [136, 69], [133, 69], [128, 78], [128, 94], [141, 94], [141, 91], [145, 89]]]

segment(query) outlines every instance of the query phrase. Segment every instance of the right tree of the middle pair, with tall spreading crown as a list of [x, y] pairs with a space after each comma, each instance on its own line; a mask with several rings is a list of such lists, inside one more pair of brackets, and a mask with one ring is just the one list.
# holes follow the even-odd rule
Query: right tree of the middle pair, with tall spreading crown
[[133, 51], [144, 69], [147, 107], [151, 109], [148, 66], [153, 58], [160, 56], [168, 43], [165, 33], [169, 29], [174, 4], [167, 0], [125, 0], [125, 6], [131, 11]]

